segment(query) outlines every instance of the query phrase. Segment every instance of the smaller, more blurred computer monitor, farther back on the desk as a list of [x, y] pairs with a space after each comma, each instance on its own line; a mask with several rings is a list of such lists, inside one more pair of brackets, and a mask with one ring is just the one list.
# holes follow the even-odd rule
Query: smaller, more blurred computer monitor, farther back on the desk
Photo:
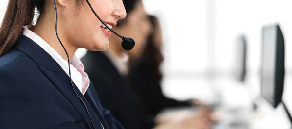
[[246, 77], [247, 61], [247, 39], [244, 34], [240, 34], [235, 42], [234, 55], [234, 78], [239, 82], [244, 82]]

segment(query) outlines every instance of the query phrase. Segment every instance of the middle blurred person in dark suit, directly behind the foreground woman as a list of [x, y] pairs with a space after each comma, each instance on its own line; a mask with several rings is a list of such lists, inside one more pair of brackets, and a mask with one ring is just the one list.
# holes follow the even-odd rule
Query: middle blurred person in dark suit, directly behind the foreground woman
[[[109, 49], [105, 52], [88, 51], [82, 58], [85, 71], [95, 85], [102, 105], [109, 109], [126, 129], [183, 129], [186, 121], [161, 120], [156, 121], [155, 114], [148, 113], [143, 101], [128, 84], [128, 59], [138, 58], [146, 45], [152, 27], [146, 15], [141, 0], [124, 0], [127, 18], [120, 20], [113, 30], [125, 37], [131, 37], [136, 45], [131, 51], [121, 47], [122, 40], [118, 36], [110, 38]], [[204, 113], [206, 110], [202, 110]], [[205, 129], [208, 121], [202, 121], [207, 116], [198, 115], [197, 126], [193, 129]], [[194, 119], [194, 118], [192, 118]], [[193, 124], [194, 122], [192, 122]], [[196, 123], [196, 122], [195, 122]], [[191, 124], [191, 123], [190, 123]], [[179, 128], [180, 127], [180, 128]], [[207, 128], [206, 128], [207, 129]]]

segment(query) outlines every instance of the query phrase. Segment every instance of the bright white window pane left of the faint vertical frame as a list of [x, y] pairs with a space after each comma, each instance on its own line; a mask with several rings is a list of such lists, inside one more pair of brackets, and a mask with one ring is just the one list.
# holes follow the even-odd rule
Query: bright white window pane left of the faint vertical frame
[[165, 72], [202, 73], [207, 66], [205, 0], [143, 0], [163, 27]]

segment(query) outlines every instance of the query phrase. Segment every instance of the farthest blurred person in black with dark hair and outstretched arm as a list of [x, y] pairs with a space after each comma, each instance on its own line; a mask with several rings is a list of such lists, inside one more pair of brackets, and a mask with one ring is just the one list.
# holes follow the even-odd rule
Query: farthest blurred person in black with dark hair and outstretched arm
[[[174, 107], [190, 107], [198, 103], [195, 99], [177, 101], [163, 95], [161, 89], [162, 74], [160, 65], [163, 62], [161, 53], [162, 37], [159, 21], [155, 16], [149, 16], [152, 32], [146, 44], [140, 45], [139, 54], [130, 51], [130, 68], [128, 80], [131, 88], [137, 93], [144, 103], [147, 112], [158, 114], [164, 109]], [[143, 53], [140, 56], [140, 53]]]

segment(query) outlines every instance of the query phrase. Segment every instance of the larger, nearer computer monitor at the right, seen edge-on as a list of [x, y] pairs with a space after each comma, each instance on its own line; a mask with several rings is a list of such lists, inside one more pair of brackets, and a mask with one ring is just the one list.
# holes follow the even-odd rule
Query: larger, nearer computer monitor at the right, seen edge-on
[[274, 108], [282, 101], [284, 87], [284, 37], [279, 25], [262, 29], [261, 96]]

